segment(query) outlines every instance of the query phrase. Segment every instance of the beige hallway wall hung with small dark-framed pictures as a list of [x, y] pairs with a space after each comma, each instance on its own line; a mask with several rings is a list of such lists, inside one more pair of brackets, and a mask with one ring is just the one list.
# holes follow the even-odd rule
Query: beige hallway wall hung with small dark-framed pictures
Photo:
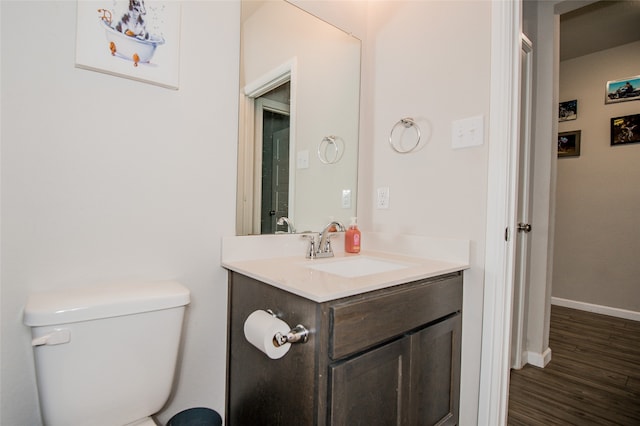
[[608, 80], [638, 74], [640, 42], [560, 63], [560, 101], [578, 100], [579, 157], [558, 159], [553, 296], [640, 312], [640, 145], [610, 144], [610, 120], [640, 102], [604, 103]]

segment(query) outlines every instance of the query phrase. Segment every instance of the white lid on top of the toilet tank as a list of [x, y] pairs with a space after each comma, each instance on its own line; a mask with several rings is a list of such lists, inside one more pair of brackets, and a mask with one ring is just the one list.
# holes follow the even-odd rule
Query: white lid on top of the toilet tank
[[184, 306], [189, 289], [177, 281], [128, 281], [29, 296], [24, 323], [44, 326], [110, 318]]

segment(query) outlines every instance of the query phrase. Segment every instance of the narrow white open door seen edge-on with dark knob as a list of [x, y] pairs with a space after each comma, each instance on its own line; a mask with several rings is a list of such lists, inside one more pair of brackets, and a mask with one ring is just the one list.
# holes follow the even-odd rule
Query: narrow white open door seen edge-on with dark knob
[[522, 36], [520, 80], [520, 141], [517, 232], [511, 328], [511, 368], [526, 364], [527, 289], [529, 285], [529, 232], [531, 217], [531, 91], [533, 46]]

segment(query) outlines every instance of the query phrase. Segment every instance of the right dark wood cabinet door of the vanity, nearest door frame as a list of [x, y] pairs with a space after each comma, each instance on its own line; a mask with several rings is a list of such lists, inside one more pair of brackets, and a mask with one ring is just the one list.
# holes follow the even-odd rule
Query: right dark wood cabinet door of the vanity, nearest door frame
[[411, 335], [411, 421], [415, 426], [458, 424], [462, 316]]

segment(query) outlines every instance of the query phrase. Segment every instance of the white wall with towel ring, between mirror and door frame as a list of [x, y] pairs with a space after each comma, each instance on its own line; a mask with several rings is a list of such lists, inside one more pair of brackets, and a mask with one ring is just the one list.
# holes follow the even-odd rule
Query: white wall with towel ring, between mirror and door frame
[[[358, 215], [373, 231], [472, 241], [464, 287], [460, 424], [475, 425], [488, 143], [453, 150], [451, 122], [483, 115], [488, 135], [491, 3], [372, 2], [369, 15], [362, 105], [371, 130], [362, 138]], [[417, 121], [426, 144], [397, 154], [389, 134], [407, 116]], [[367, 169], [372, 173], [362, 172]], [[390, 189], [388, 210], [374, 208], [379, 186]]]

